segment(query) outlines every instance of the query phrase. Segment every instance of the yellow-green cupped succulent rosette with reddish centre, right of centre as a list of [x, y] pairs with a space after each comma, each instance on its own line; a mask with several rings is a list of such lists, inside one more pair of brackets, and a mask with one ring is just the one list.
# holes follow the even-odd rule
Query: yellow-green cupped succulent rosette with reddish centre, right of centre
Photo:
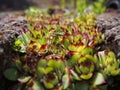
[[86, 47], [85, 45], [70, 45], [68, 48], [70, 49], [68, 54], [71, 55], [70, 60], [72, 63], [71, 70], [73, 77], [78, 80], [88, 80], [92, 78], [96, 62], [92, 55], [92, 49], [90, 47]]

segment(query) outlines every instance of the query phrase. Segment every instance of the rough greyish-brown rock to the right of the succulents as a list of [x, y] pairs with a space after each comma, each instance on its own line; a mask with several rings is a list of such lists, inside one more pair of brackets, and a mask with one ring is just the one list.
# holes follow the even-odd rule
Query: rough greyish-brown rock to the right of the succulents
[[120, 11], [112, 10], [97, 17], [97, 27], [105, 35], [105, 47], [120, 58]]

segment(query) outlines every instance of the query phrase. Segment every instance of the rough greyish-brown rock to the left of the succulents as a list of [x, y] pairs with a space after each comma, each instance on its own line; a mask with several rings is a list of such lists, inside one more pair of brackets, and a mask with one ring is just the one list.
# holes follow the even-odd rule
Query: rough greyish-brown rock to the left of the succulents
[[[9, 66], [9, 62], [15, 57], [16, 52], [12, 48], [12, 42], [23, 28], [27, 27], [25, 18], [18, 13], [7, 12], [0, 14], [0, 81], [3, 81], [3, 71]], [[4, 80], [5, 81], [5, 80]], [[3, 81], [3, 82], [4, 82]], [[4, 83], [0, 84], [0, 90]]]

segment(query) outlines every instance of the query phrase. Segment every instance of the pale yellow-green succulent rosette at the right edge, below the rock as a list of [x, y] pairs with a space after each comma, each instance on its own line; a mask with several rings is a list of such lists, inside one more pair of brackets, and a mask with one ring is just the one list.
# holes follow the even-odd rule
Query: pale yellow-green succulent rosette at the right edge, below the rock
[[116, 76], [120, 74], [120, 61], [116, 59], [112, 51], [101, 51], [98, 53], [99, 67], [101, 72], [107, 76]]

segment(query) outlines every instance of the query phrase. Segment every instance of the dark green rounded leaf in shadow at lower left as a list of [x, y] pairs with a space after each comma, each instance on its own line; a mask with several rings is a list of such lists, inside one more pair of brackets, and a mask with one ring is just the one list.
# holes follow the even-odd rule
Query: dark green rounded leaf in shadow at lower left
[[8, 68], [4, 72], [4, 76], [11, 81], [16, 81], [18, 79], [18, 71], [15, 68]]

